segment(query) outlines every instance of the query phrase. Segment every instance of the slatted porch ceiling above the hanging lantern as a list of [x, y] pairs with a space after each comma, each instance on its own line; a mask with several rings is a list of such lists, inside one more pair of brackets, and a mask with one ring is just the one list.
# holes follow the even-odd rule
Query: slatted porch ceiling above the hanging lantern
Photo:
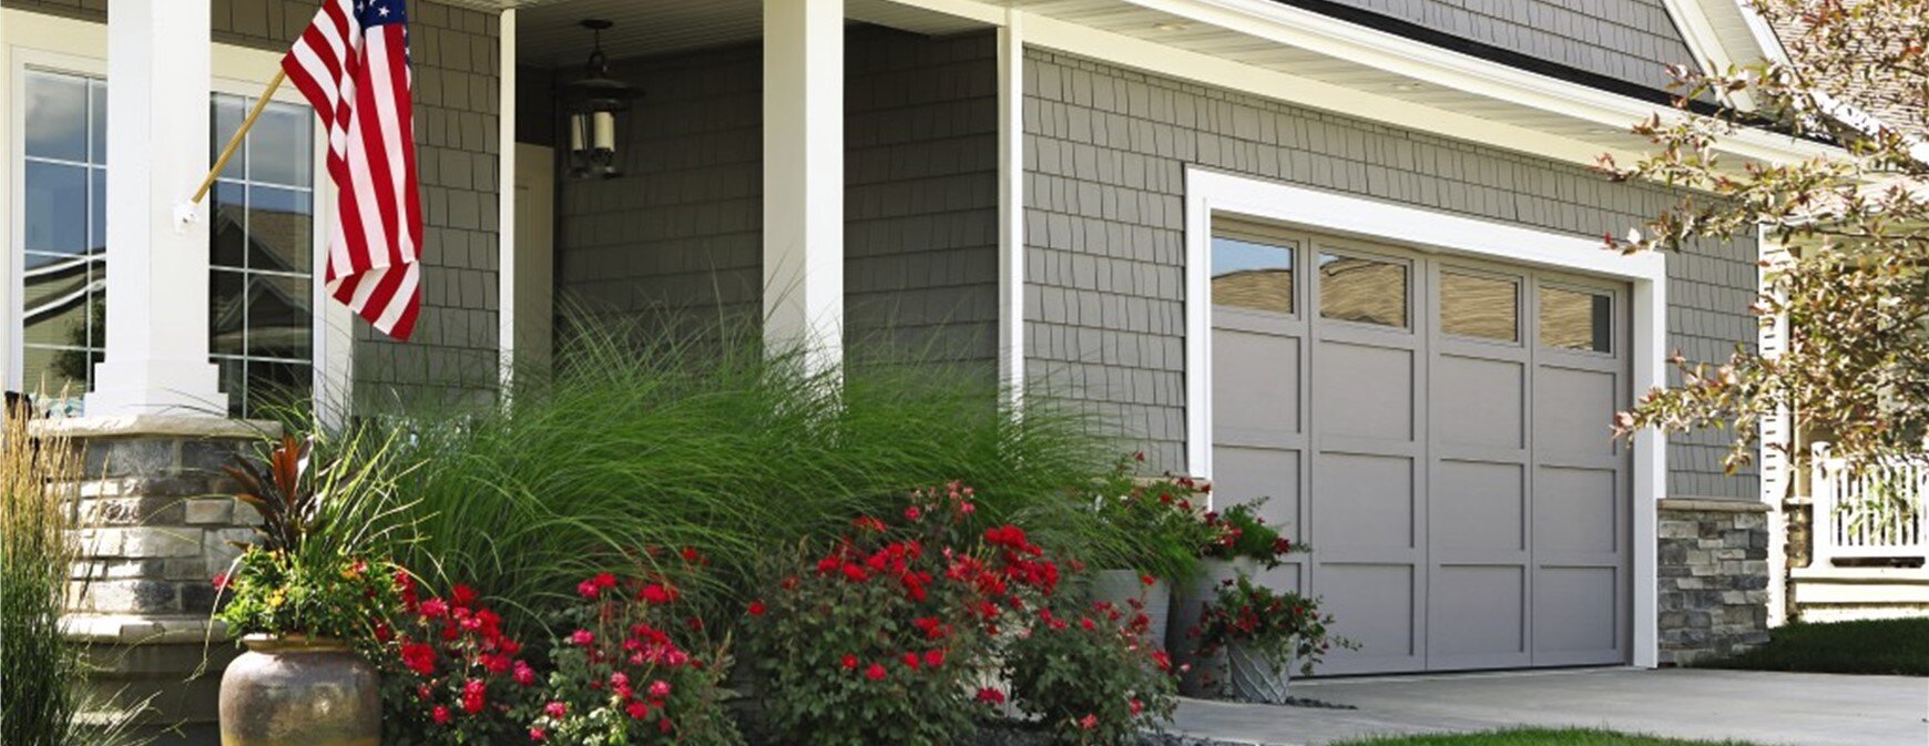
[[[469, 0], [494, 8], [521, 8], [517, 13], [517, 54], [521, 64], [542, 67], [577, 66], [590, 52], [590, 33], [577, 21], [613, 21], [604, 31], [604, 52], [611, 60], [687, 52], [704, 46], [747, 42], [762, 37], [762, 0]], [[984, 29], [984, 23], [889, 0], [847, 0], [851, 21], [876, 23], [922, 35]]]

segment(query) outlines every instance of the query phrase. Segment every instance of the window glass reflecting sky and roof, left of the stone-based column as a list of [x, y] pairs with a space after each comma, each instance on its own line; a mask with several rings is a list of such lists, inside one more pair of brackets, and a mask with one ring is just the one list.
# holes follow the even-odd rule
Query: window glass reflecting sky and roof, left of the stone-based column
[[79, 414], [106, 349], [106, 83], [23, 75], [21, 386]]

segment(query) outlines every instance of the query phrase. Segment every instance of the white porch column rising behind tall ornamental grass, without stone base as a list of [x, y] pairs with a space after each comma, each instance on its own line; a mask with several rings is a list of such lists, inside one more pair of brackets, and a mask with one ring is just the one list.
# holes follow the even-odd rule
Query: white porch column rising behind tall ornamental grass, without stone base
[[764, 343], [843, 360], [843, 0], [764, 0]]

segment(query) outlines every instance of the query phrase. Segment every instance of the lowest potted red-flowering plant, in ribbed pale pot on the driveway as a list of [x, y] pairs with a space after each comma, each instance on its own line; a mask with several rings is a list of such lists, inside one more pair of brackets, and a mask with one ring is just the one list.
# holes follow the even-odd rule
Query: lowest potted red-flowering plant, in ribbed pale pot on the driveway
[[1294, 667], [1310, 675], [1333, 646], [1354, 646], [1329, 636], [1331, 623], [1319, 599], [1240, 574], [1219, 586], [1194, 634], [1200, 653], [1225, 653], [1227, 688], [1235, 700], [1287, 704]]

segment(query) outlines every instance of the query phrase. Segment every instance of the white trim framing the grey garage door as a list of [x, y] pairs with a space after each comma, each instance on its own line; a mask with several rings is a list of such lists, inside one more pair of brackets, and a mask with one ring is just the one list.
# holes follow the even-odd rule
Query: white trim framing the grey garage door
[[[1410, 204], [1186, 168], [1186, 463], [1211, 478], [1211, 216], [1275, 220], [1339, 235], [1555, 268], [1634, 285], [1634, 376], [1630, 399], [1667, 382], [1667, 256], [1622, 256], [1601, 241], [1526, 226], [1454, 216]], [[1655, 522], [1667, 495], [1667, 440], [1634, 438], [1634, 665], [1657, 665]]]

